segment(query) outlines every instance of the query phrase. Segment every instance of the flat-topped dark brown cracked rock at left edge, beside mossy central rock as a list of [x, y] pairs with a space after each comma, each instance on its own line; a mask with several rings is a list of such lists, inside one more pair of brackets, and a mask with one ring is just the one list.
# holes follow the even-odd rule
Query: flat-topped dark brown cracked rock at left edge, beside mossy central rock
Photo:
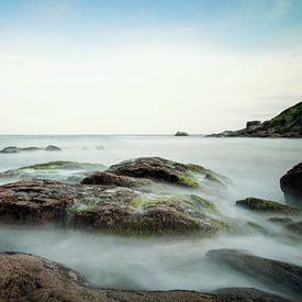
[[57, 181], [22, 180], [0, 186], [0, 222], [64, 222], [72, 203], [70, 189]]

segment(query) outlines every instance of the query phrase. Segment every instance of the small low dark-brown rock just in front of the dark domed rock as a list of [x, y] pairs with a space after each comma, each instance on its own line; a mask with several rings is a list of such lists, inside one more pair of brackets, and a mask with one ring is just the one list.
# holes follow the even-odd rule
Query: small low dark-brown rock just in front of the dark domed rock
[[127, 176], [118, 176], [110, 172], [96, 172], [81, 181], [82, 184], [115, 186], [115, 187], [139, 187], [147, 184], [146, 181]]

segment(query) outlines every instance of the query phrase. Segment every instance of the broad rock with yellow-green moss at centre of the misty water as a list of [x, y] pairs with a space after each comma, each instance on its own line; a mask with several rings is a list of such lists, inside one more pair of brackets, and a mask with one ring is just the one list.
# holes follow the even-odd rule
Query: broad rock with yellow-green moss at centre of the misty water
[[[94, 190], [91, 187], [90, 190]], [[92, 199], [94, 195], [94, 200]], [[226, 225], [208, 215], [211, 203], [182, 195], [147, 195], [125, 188], [86, 192], [70, 209], [70, 227], [125, 235], [212, 235]]]

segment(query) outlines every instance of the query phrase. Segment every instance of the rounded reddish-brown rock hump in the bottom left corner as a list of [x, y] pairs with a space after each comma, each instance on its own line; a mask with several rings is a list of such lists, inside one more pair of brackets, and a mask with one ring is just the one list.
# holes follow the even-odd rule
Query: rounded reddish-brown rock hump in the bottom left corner
[[0, 254], [1, 301], [107, 301], [76, 271], [42, 257]]

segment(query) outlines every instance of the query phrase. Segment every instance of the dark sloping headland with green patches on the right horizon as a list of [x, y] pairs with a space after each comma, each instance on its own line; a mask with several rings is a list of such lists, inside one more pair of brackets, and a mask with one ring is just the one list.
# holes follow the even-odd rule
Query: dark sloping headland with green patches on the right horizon
[[249, 121], [238, 131], [224, 131], [209, 137], [302, 137], [302, 102], [288, 108], [276, 118], [260, 122]]

